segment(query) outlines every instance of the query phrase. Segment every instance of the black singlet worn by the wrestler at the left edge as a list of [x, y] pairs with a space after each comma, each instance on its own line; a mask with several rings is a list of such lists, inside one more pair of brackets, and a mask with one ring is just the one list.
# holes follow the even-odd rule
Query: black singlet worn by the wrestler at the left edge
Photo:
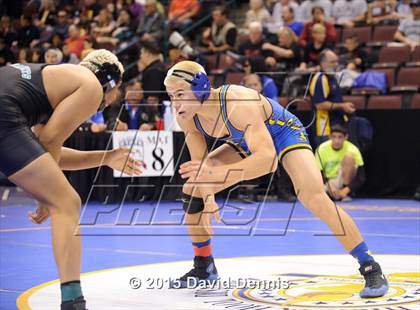
[[31, 131], [53, 109], [45, 93], [45, 64], [14, 64], [0, 68], [0, 171], [10, 176], [46, 153]]

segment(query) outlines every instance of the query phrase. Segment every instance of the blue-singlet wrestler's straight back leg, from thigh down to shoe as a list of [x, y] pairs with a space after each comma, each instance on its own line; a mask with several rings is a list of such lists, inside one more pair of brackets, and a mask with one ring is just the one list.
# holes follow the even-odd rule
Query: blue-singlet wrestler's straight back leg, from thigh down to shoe
[[291, 151], [283, 156], [282, 163], [292, 179], [299, 200], [324, 221], [343, 247], [357, 258], [359, 271], [365, 278], [365, 287], [360, 291], [360, 297], [385, 295], [389, 286], [381, 267], [374, 261], [351, 217], [336, 206], [323, 190], [321, 173], [312, 152], [306, 149]]

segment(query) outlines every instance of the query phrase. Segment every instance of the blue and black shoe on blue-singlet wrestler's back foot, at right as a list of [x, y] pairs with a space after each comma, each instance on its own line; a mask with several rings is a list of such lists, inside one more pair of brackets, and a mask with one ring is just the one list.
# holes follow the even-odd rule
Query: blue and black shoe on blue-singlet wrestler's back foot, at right
[[388, 292], [388, 281], [382, 273], [381, 266], [377, 262], [363, 264], [359, 271], [366, 281], [365, 287], [359, 293], [360, 297], [381, 297]]

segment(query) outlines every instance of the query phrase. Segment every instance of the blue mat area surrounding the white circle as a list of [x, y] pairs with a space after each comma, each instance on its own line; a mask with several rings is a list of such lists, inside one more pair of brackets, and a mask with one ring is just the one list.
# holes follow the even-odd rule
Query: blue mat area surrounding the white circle
[[[300, 204], [294, 209], [292, 203], [284, 202], [267, 202], [262, 207], [258, 203], [229, 204], [224, 214], [228, 225], [215, 224], [212, 244], [216, 258], [344, 253], [335, 237], [328, 236], [327, 226]], [[420, 253], [419, 202], [359, 199], [340, 205], [348, 207], [373, 253]], [[0, 309], [15, 309], [21, 292], [57, 278], [49, 222], [35, 225], [27, 219], [34, 207], [11, 203], [0, 207]], [[90, 204], [83, 213], [83, 272], [192, 258], [186, 227], [175, 225], [182, 213], [169, 212], [181, 210], [179, 202], [162, 202], [159, 208], [150, 202], [129, 205], [119, 215], [118, 210], [100, 214], [96, 221], [118, 225], [86, 227], [95, 222], [97, 211], [115, 208]], [[253, 220], [257, 210], [259, 221]], [[151, 218], [154, 225], [146, 225]]]

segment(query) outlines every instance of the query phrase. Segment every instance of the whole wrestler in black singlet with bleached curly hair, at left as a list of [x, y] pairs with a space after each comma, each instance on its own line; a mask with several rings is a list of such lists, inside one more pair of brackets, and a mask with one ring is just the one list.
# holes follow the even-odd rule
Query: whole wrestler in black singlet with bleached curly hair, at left
[[[105, 94], [108, 105], [118, 92], [123, 68], [106, 50], [86, 56], [80, 65], [14, 64], [0, 68], [0, 172], [39, 203], [30, 219], [51, 215], [54, 256], [61, 280], [61, 309], [85, 309], [80, 288], [81, 201], [62, 170], [108, 165], [140, 173], [126, 150], [79, 152], [64, 141], [94, 114]], [[45, 124], [45, 125], [42, 125]], [[37, 136], [31, 131], [35, 127]]]

